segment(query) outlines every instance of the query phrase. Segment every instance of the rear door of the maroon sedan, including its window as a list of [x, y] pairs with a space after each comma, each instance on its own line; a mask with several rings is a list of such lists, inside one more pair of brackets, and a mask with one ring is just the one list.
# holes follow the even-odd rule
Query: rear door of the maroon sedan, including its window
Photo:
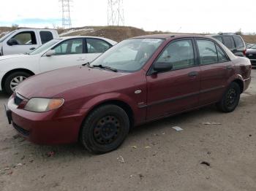
[[200, 105], [217, 102], [234, 73], [233, 64], [225, 51], [210, 39], [196, 39], [200, 62]]

